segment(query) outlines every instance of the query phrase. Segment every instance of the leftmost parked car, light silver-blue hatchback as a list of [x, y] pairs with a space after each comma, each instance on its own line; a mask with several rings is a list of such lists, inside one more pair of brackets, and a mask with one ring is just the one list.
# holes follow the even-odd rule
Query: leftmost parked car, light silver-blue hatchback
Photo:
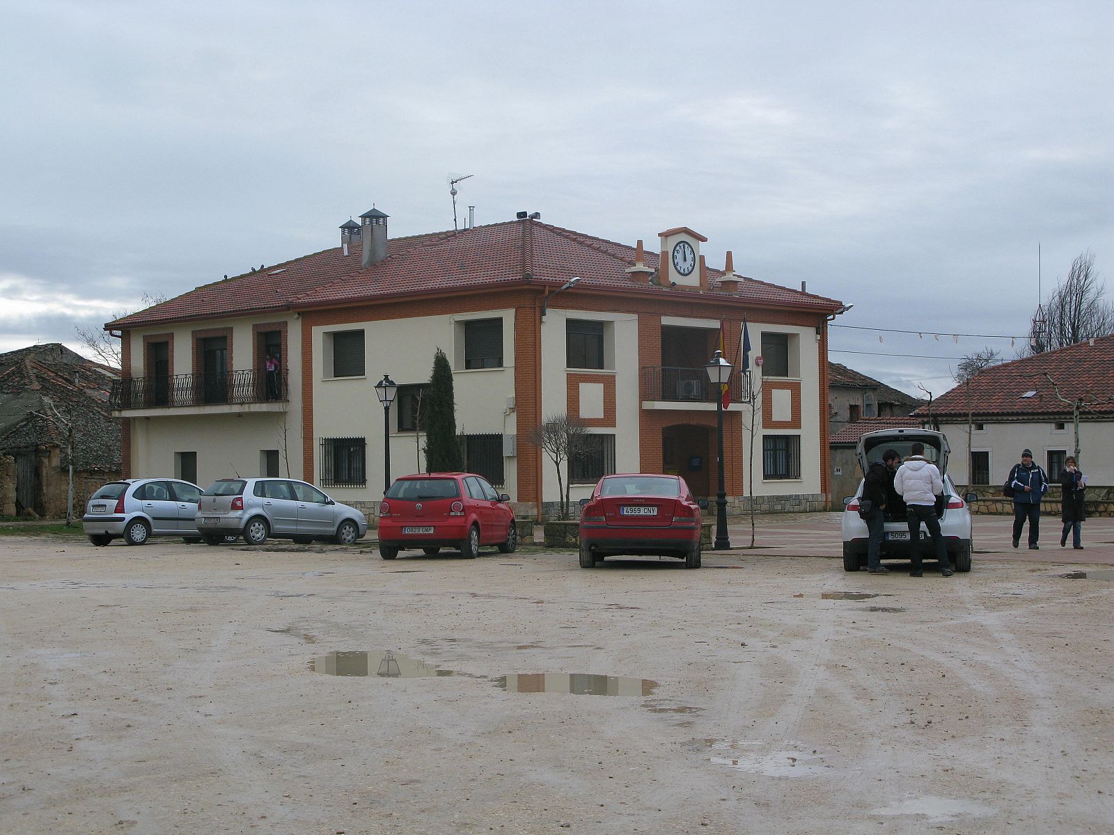
[[178, 479], [110, 481], [85, 505], [81, 528], [95, 546], [120, 539], [141, 546], [152, 537], [182, 537], [198, 542], [194, 524], [202, 489]]

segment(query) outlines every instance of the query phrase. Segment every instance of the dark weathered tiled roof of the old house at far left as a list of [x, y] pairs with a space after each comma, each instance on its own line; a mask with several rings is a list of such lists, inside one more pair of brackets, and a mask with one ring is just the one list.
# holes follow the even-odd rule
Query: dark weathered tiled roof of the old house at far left
[[0, 354], [0, 449], [58, 446], [68, 464], [71, 422], [75, 469], [119, 470], [120, 422], [108, 405], [118, 377], [58, 343]]

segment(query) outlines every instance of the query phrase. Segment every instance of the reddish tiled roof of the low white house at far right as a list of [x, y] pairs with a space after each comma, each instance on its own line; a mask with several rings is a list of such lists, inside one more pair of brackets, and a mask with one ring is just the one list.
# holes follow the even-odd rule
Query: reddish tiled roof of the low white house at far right
[[[1114, 335], [984, 369], [971, 377], [969, 401], [967, 386], [957, 385], [932, 401], [931, 412], [935, 418], [966, 418], [968, 411], [1006, 419], [1071, 415], [1057, 387], [1068, 400], [1114, 397]], [[916, 414], [927, 416], [928, 411], [924, 405]], [[1114, 402], [1081, 411], [1081, 416], [1088, 414], [1114, 414]]]

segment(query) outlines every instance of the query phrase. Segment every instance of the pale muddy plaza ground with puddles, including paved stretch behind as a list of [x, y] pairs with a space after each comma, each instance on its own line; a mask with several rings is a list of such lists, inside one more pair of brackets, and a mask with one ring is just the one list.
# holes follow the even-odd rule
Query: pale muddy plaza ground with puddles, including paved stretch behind
[[3, 537], [0, 832], [1108, 833], [1114, 522], [1044, 522], [922, 579], [829, 513], [698, 571]]

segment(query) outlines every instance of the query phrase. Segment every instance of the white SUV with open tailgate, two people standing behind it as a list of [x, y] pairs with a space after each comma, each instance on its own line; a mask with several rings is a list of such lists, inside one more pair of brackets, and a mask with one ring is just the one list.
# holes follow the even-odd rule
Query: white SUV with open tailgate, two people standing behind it
[[[936, 500], [936, 514], [940, 519], [940, 533], [944, 534], [944, 543], [948, 549], [948, 558], [956, 571], [971, 570], [971, 513], [968, 504], [978, 497], [975, 493], [967, 493], [960, 498], [956, 492], [956, 485], [948, 478], [948, 439], [942, 432], [934, 432], [929, 429], [902, 428], [883, 429], [877, 432], [868, 432], [859, 439], [856, 448], [856, 455], [859, 459], [859, 468], [866, 475], [867, 470], [876, 461], [881, 461], [887, 450], [896, 450], [901, 459], [907, 459], [911, 452], [910, 448], [920, 441], [925, 444], [925, 458], [931, 461], [940, 470], [944, 477], [944, 495]], [[840, 520], [840, 528], [843, 532], [843, 569], [846, 571], [858, 571], [867, 564], [867, 523], [859, 517], [859, 498], [862, 495], [863, 480], [859, 480], [859, 489], [854, 495], [849, 495], [843, 500], [843, 517]], [[888, 502], [889, 504], [890, 502]], [[882, 538], [882, 559], [909, 559], [909, 527], [906, 524], [905, 504], [886, 508], [885, 534]], [[926, 558], [935, 558], [928, 539], [928, 530], [921, 524], [920, 547], [921, 554]]]

